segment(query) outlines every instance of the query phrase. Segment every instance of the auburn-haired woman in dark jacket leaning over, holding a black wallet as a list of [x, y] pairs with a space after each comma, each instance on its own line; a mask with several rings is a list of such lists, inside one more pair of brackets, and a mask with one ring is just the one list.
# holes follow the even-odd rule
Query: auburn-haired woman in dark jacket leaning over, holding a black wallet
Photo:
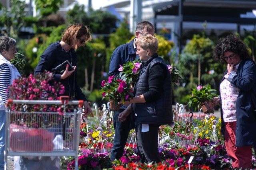
[[70, 69], [70, 66], [67, 64], [66, 70], [54, 72], [53, 80], [61, 82], [65, 87], [63, 96], [70, 96], [71, 100], [74, 98], [76, 100], [84, 100], [85, 111], [92, 114], [88, 100], [77, 83], [77, 55], [75, 51], [91, 40], [92, 37], [88, 27], [80, 23], [71, 25], [64, 32], [61, 41], [49, 45], [41, 55], [41, 59], [36, 66], [35, 74], [41, 74], [45, 70], [52, 71], [52, 68], [62, 64], [64, 61], [69, 61], [74, 68]]

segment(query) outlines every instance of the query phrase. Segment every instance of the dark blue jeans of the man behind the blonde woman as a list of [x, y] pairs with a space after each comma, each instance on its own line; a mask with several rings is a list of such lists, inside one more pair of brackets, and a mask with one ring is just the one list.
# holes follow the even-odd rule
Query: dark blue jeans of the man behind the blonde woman
[[114, 111], [113, 126], [115, 129], [115, 137], [113, 147], [111, 149], [110, 160], [120, 159], [124, 154], [124, 147], [130, 133], [131, 114], [126, 117], [126, 121], [118, 121], [119, 114], [123, 109]]

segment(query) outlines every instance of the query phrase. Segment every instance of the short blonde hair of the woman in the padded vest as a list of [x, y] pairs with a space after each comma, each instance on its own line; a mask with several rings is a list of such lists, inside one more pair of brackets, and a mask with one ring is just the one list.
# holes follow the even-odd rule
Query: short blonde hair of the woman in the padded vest
[[135, 43], [136, 45], [139, 45], [144, 50], [150, 49], [151, 53], [154, 54], [158, 50], [159, 41], [156, 37], [149, 34], [149, 35], [141, 36], [140, 38], [137, 39]]

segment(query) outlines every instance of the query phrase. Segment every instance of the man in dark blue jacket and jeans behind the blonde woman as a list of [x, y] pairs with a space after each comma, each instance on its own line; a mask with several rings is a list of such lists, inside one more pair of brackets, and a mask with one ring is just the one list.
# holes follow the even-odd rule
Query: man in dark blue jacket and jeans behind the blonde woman
[[[136, 56], [136, 40], [143, 35], [154, 35], [154, 25], [148, 21], [141, 21], [136, 26], [135, 38], [130, 43], [120, 45], [115, 49], [110, 59], [110, 66], [108, 76], [119, 75], [118, 68], [120, 65], [127, 63], [128, 61], [134, 61]], [[115, 137], [113, 147], [111, 150], [110, 159], [120, 159], [124, 154], [124, 147], [131, 129], [132, 121], [131, 114], [126, 117], [126, 121], [118, 121], [119, 114], [126, 109], [127, 106], [121, 105], [120, 109], [114, 111], [113, 125], [115, 129]], [[133, 127], [132, 127], [133, 128]]]

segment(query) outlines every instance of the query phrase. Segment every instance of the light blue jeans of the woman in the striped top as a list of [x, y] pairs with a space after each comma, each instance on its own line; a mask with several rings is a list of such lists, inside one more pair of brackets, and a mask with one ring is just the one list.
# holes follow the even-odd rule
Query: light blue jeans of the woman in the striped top
[[5, 119], [5, 110], [0, 110], [0, 170], [4, 169]]

